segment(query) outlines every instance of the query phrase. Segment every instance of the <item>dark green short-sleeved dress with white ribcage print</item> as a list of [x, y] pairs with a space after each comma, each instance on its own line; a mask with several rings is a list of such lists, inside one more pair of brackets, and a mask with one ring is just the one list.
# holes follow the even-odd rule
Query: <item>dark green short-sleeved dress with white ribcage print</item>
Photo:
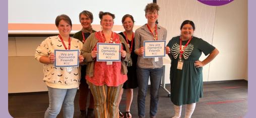
[[[182, 48], [187, 41], [181, 42]], [[203, 68], [197, 68], [194, 63], [199, 60], [202, 52], [208, 55], [215, 47], [200, 38], [193, 37], [183, 52], [183, 67], [180, 70], [177, 69], [179, 45], [179, 36], [173, 37], [167, 44], [171, 49], [169, 54], [171, 58], [171, 101], [175, 105], [195, 103], [203, 96]]]

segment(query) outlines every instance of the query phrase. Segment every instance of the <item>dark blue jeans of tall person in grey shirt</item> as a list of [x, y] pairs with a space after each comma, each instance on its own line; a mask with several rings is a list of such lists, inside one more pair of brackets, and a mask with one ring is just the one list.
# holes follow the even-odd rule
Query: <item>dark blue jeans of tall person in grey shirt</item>
[[140, 68], [137, 67], [138, 79], [138, 114], [145, 117], [145, 98], [147, 95], [148, 82], [150, 77], [150, 116], [156, 116], [158, 104], [158, 92], [163, 74], [161, 68]]

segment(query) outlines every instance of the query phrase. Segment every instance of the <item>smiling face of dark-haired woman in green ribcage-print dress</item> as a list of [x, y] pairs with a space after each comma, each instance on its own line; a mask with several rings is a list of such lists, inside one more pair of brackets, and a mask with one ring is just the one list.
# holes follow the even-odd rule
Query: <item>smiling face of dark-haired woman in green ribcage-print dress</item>
[[181, 28], [181, 36], [183, 39], [190, 39], [193, 36], [194, 30], [193, 27], [190, 24], [185, 24]]

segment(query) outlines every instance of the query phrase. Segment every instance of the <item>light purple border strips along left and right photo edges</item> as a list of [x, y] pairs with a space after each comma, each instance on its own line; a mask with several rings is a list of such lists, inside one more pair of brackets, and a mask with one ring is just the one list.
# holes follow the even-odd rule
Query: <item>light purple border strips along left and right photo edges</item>
[[[254, 55], [254, 52], [256, 50], [256, 47], [254, 44], [256, 44], [256, 39], [254, 34], [254, 28], [256, 27], [256, 15], [253, 13], [253, 11], [256, 11], [256, 1], [248, 0], [248, 112], [245, 115], [245, 117], [254, 117], [254, 106], [256, 105], [256, 94], [253, 90], [256, 89], [256, 86], [254, 85], [256, 83], [255, 80], [255, 74], [254, 69], [256, 67], [256, 55]], [[1, 19], [0, 22], [0, 33], [2, 36], [2, 43], [4, 45], [1, 46], [2, 49], [2, 56], [1, 61], [3, 62], [2, 71], [2, 85], [1, 85], [1, 117], [11, 117], [11, 115], [8, 112], [8, 1], [3, 0], [0, 2], [0, 8], [1, 8], [1, 16], [3, 19]]]

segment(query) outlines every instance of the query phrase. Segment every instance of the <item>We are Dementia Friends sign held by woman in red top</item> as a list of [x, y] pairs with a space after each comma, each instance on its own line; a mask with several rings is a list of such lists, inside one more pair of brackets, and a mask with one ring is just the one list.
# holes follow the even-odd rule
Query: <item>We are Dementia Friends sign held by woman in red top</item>
[[97, 43], [97, 61], [121, 61], [121, 44]]

